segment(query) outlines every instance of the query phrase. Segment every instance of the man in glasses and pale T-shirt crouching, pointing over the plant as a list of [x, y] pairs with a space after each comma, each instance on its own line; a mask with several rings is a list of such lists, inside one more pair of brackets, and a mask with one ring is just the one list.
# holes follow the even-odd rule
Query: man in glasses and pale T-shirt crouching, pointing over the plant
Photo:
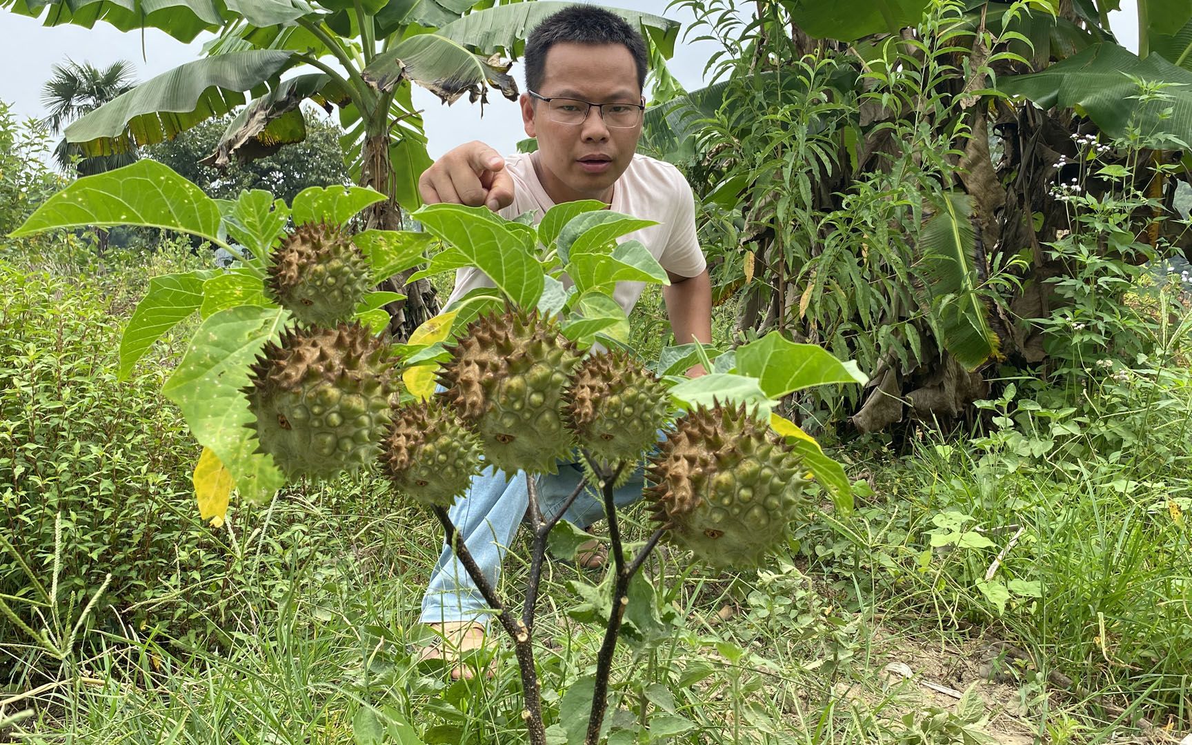
[[[535, 219], [552, 206], [598, 199], [616, 212], [657, 221], [626, 236], [641, 241], [658, 259], [671, 285], [663, 291], [671, 329], [679, 343], [712, 341], [712, 290], [696, 238], [691, 188], [673, 166], [635, 155], [641, 135], [646, 44], [623, 19], [595, 6], [572, 6], [539, 24], [526, 43], [526, 93], [521, 97], [526, 134], [538, 150], [508, 160], [482, 142], [447, 153], [422, 174], [418, 188], [428, 204], [488, 205], [503, 217], [527, 211]], [[447, 302], [491, 286], [478, 269], [460, 269]], [[628, 313], [645, 285], [621, 283], [614, 298]], [[689, 374], [701, 373], [693, 368]], [[542, 510], [579, 483], [577, 468], [563, 466], [541, 483]], [[640, 497], [641, 483], [619, 492], [619, 503]], [[635, 490], [635, 493], [634, 493]], [[451, 510], [468, 551], [496, 584], [504, 548], [513, 541], [528, 505], [526, 474], [509, 478], [486, 470]], [[603, 516], [595, 499], [577, 502], [565, 517], [586, 526]], [[422, 602], [422, 622], [440, 644], [422, 659], [449, 657], [484, 641], [486, 604], [467, 573], [443, 547]], [[457, 664], [452, 677], [470, 676]]]

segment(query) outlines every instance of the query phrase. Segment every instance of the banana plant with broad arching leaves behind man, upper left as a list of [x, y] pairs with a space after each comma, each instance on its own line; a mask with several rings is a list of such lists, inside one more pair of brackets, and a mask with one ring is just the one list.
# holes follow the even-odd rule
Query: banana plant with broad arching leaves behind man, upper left
[[[67, 128], [88, 156], [169, 139], [242, 105], [211, 162], [252, 160], [305, 137], [304, 101], [339, 108], [344, 153], [358, 185], [387, 199], [362, 216], [366, 229], [401, 228], [402, 209], [420, 206], [417, 179], [430, 164], [411, 83], [451, 104], [464, 94], [483, 104], [490, 91], [514, 100], [509, 60], [541, 19], [569, 2], [488, 5], [476, 0], [164, 0], [142, 6], [111, 0], [0, 0], [45, 25], [92, 26], [103, 19], [129, 31], [156, 27], [190, 42], [218, 37], [206, 56], [148, 80]], [[659, 54], [673, 51], [678, 24], [616, 11], [640, 26]], [[254, 97], [249, 100], [249, 95]], [[246, 105], [247, 104], [247, 105]], [[392, 291], [406, 277], [391, 278]], [[437, 308], [429, 284], [404, 290], [391, 305], [405, 337]]]

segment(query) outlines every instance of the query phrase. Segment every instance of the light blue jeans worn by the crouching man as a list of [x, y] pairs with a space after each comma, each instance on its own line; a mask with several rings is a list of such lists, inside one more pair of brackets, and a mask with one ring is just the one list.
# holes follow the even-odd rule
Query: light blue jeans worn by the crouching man
[[[617, 507], [641, 498], [641, 471], [616, 490]], [[583, 478], [583, 470], [571, 462], [559, 462], [557, 476], [538, 477], [539, 507], [547, 519], [557, 515], [559, 508], [575, 491]], [[497, 586], [501, 563], [529, 507], [526, 491], [526, 473], [519, 472], [510, 479], [504, 471], [492, 466], [472, 478], [467, 493], [448, 510], [452, 522], [464, 544], [476, 559], [489, 583]], [[585, 490], [563, 514], [563, 519], [586, 527], [604, 516], [604, 507]], [[464, 565], [455, 559], [451, 547], [443, 545], [439, 563], [430, 575], [430, 585], [422, 596], [423, 623], [451, 621], [476, 621], [488, 626], [489, 604], [467, 575]]]

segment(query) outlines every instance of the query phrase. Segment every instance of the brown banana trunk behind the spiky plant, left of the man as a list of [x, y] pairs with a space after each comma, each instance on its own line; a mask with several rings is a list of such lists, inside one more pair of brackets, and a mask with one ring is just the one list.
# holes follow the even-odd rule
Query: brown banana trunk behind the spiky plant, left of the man
[[[360, 168], [360, 186], [367, 186], [389, 199], [378, 201], [365, 210], [365, 230], [402, 230], [402, 207], [393, 198], [393, 167], [389, 160], [389, 135], [381, 132], [365, 139], [364, 163]], [[406, 283], [416, 269], [395, 274], [380, 283], [378, 290], [401, 292], [404, 300], [385, 306], [389, 311], [389, 330], [393, 341], [404, 342], [422, 322], [439, 312], [439, 297], [427, 279]]]

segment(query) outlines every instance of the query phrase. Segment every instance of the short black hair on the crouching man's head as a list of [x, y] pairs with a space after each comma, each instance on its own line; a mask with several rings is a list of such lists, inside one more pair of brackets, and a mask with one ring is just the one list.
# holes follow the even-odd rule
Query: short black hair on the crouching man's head
[[616, 13], [595, 5], [573, 5], [548, 15], [526, 39], [526, 87], [538, 91], [546, 76], [546, 52], [559, 43], [623, 44], [638, 68], [638, 89], [646, 85], [646, 39]]

